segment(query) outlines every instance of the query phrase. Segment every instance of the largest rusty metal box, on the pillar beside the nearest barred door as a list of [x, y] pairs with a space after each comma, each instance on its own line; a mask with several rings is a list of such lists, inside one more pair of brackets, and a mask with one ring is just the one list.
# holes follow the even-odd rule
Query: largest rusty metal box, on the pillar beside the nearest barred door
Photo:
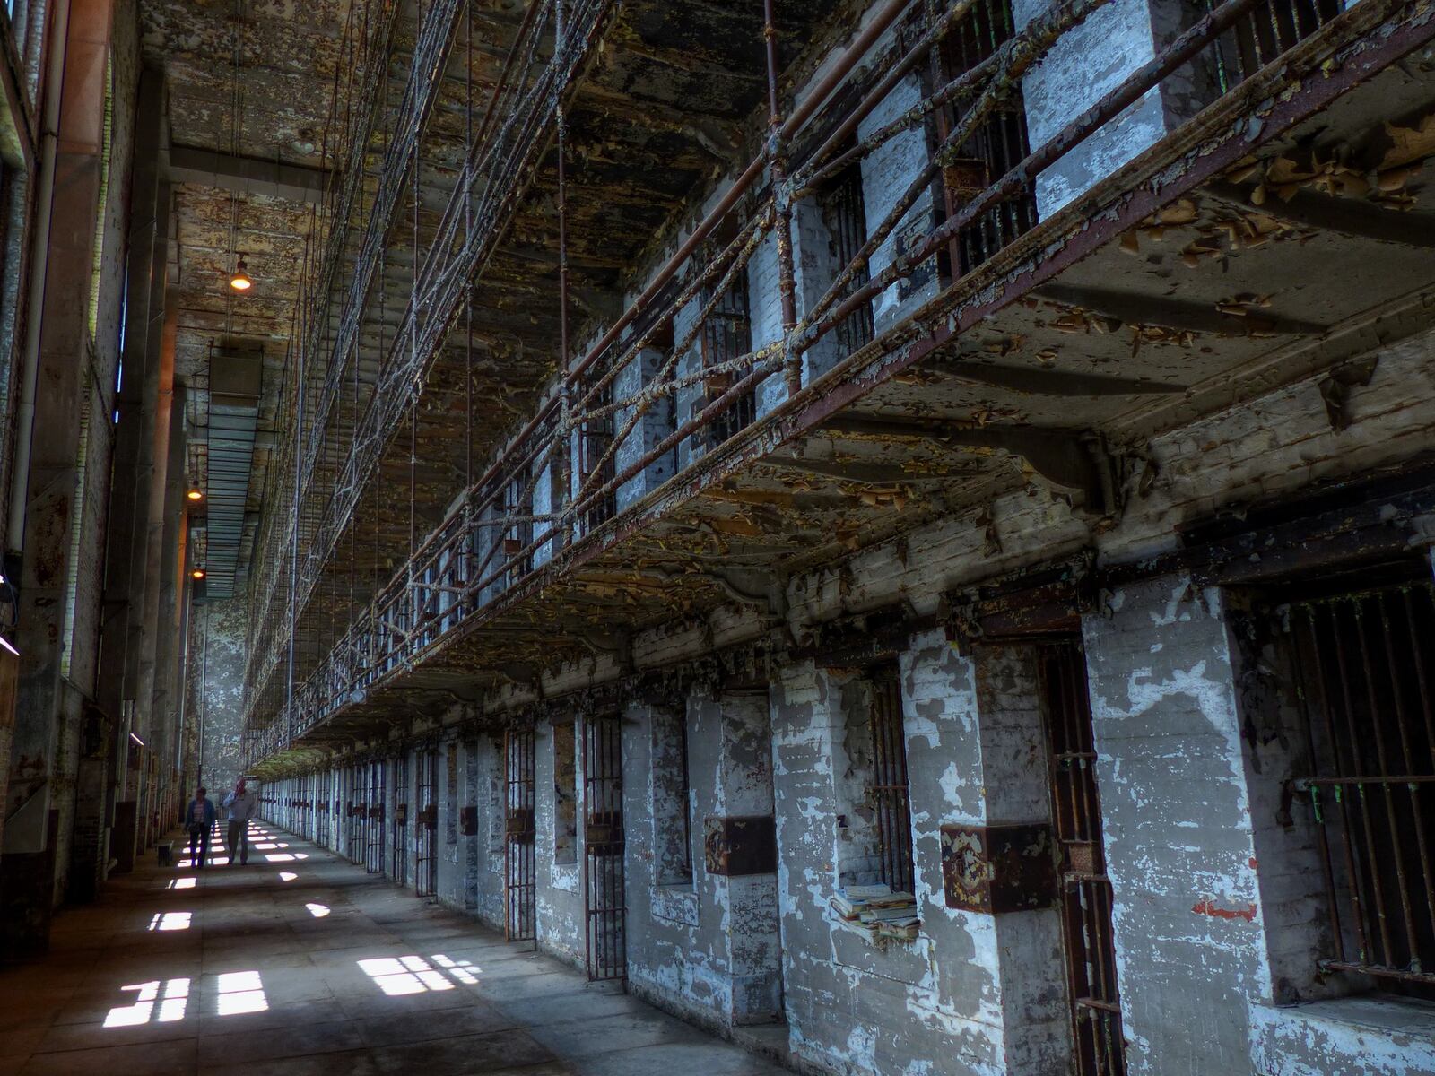
[[1056, 856], [1046, 823], [941, 826], [947, 907], [993, 915], [1048, 908], [1056, 900]]

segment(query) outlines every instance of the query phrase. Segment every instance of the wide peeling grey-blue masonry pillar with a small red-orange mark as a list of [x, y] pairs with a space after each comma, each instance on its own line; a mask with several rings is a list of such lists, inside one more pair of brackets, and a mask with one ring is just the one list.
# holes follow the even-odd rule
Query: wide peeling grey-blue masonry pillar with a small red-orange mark
[[1250, 1072], [1273, 984], [1224, 595], [1135, 582], [1083, 634], [1128, 1070]]

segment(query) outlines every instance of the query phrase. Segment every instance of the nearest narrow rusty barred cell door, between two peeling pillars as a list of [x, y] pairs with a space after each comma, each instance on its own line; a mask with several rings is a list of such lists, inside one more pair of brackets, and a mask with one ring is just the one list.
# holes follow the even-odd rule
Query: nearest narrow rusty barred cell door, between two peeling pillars
[[1101, 832], [1096, 749], [1086, 656], [1076, 638], [1043, 644], [1038, 666], [1059, 854], [1059, 910], [1066, 948], [1076, 1076], [1124, 1076], [1126, 1052], [1116, 991], [1111, 881]]

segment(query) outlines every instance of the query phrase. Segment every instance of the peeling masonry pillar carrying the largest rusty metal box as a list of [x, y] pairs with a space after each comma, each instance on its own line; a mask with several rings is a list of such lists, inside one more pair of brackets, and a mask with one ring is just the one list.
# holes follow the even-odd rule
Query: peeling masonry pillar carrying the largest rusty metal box
[[1055, 877], [1013, 877], [999, 852], [1052, 849], [1036, 648], [990, 643], [963, 657], [930, 631], [911, 640], [901, 671], [924, 928], [943, 964], [974, 948], [1002, 1069], [1063, 1072], [1071, 1010]]

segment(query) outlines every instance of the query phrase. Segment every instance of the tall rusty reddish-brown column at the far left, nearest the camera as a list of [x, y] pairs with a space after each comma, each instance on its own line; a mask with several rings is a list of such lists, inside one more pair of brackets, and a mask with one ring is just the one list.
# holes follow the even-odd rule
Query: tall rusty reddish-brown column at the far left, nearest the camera
[[40, 317], [39, 382], [29, 473], [24, 483], [20, 571], [17, 706], [4, 802], [0, 864], [3, 948], [43, 950], [55, 888], [52, 802], [60, 725], [60, 653], [65, 584], [75, 504], [83, 376], [89, 347], [86, 301], [103, 178], [109, 0], [72, 0], [55, 155], [49, 253], [43, 290], [32, 294]]

